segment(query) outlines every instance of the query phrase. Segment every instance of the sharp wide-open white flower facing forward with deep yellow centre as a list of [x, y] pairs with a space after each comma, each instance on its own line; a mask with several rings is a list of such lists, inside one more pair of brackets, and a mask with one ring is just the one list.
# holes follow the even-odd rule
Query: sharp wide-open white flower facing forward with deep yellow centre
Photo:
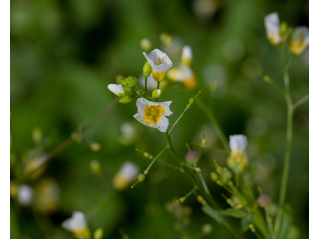
[[166, 132], [168, 119], [165, 116], [173, 114], [169, 110], [170, 103], [172, 102], [152, 102], [145, 98], [139, 98], [136, 102], [138, 113], [134, 115], [134, 118], [147, 126], [158, 128], [161, 132]]

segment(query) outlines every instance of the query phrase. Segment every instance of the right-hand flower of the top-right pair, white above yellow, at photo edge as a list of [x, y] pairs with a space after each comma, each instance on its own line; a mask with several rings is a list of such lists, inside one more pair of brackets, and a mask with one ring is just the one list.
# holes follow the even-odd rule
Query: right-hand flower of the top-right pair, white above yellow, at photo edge
[[309, 44], [309, 29], [306, 26], [296, 27], [290, 37], [290, 51], [295, 55], [304, 52]]

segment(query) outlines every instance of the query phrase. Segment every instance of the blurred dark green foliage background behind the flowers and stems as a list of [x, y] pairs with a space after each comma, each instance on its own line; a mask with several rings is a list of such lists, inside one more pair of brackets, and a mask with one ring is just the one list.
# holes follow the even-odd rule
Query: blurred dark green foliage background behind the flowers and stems
[[[115, 98], [107, 86], [115, 83], [117, 75], [142, 75], [145, 58], [140, 41], [148, 37], [152, 49], [159, 48], [160, 33], [167, 32], [173, 35], [177, 48], [192, 47], [198, 80], [191, 93], [182, 85], [164, 92], [161, 101], [173, 101], [170, 123], [198, 90], [202, 91], [199, 97], [208, 104], [209, 84], [222, 82], [227, 93], [213, 95], [213, 112], [227, 137], [237, 133], [248, 136], [247, 154], [256, 167], [256, 183], [277, 202], [285, 151], [286, 103], [258, 76], [263, 71], [283, 85], [278, 49], [268, 42], [264, 29], [264, 16], [274, 11], [290, 26], [309, 26], [309, 2], [304, 0], [11, 0], [11, 179], [19, 176], [16, 168], [35, 146], [31, 136], [34, 127], [50, 138], [44, 149], [49, 152]], [[290, 72], [292, 97], [297, 101], [309, 92], [308, 49], [294, 58]], [[36, 188], [44, 178], [56, 180], [60, 188], [58, 207], [45, 216], [19, 206], [11, 198], [11, 238], [72, 238], [61, 228], [61, 222], [73, 210], [88, 212], [123, 162], [131, 160], [141, 171], [147, 167], [148, 159], [135, 148], [156, 155], [165, 146], [165, 139], [157, 129], [135, 120], [136, 112], [135, 103], [118, 105], [86, 133], [90, 140], [101, 144], [100, 151], [92, 152], [84, 143], [73, 143], [48, 164], [40, 177], [23, 182]], [[133, 123], [139, 134], [137, 142], [121, 144], [123, 122]], [[205, 151], [200, 167], [212, 194], [225, 205], [222, 190], [209, 179], [209, 173], [214, 169], [211, 159], [223, 164], [226, 155], [214, 150], [222, 146], [196, 105], [175, 127], [172, 141], [177, 152], [184, 155], [185, 142], [200, 142], [203, 130], [213, 149]], [[302, 238], [309, 237], [308, 149], [306, 103], [294, 116], [287, 192], [294, 224]], [[168, 153], [161, 158], [174, 163]], [[92, 160], [101, 163], [102, 177], [90, 171]], [[104, 238], [121, 238], [119, 228], [131, 238], [181, 238], [175, 230], [176, 219], [165, 204], [191, 188], [183, 174], [155, 164], [145, 182], [111, 194], [89, 226], [92, 230], [102, 227]], [[184, 204], [193, 211], [187, 226], [191, 235], [210, 223], [214, 229], [207, 238], [232, 238], [225, 228], [202, 213], [194, 197]], [[249, 233], [247, 236], [254, 238]]]

